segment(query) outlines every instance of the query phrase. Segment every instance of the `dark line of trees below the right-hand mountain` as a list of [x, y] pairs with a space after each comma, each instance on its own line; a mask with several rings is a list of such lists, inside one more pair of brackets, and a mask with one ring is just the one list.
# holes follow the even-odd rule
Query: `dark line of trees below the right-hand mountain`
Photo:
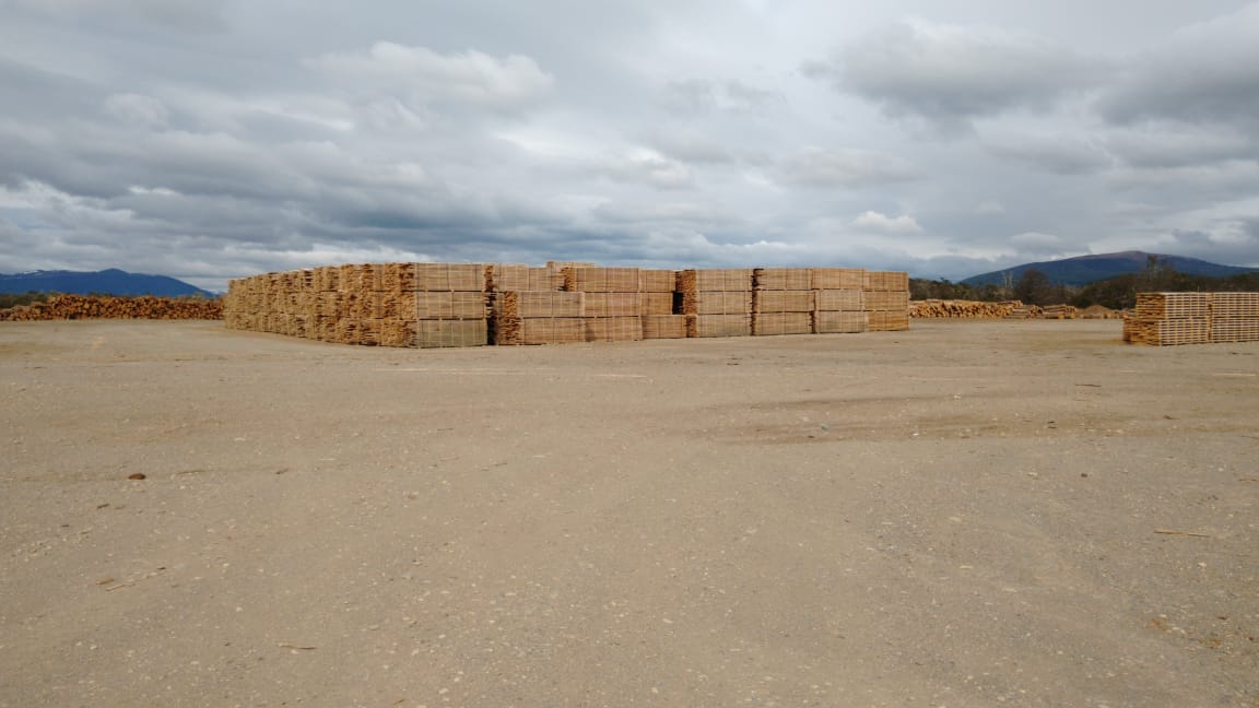
[[1022, 300], [1027, 305], [1102, 305], [1127, 310], [1137, 304], [1138, 292], [1256, 292], [1259, 272], [1229, 277], [1194, 276], [1178, 272], [1172, 263], [1151, 256], [1146, 267], [1088, 285], [1063, 285], [1049, 280], [1044, 272], [1027, 268], [1005, 283], [978, 287], [948, 280], [909, 280], [909, 296], [914, 300], [981, 300], [1000, 302]]

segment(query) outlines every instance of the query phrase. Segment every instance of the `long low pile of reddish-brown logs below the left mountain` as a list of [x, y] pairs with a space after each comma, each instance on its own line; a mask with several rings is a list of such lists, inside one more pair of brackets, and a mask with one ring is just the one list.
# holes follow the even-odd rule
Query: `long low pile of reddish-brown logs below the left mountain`
[[0, 310], [0, 320], [222, 320], [219, 300], [175, 300], [171, 297], [112, 297], [96, 295], [57, 295], [47, 302], [34, 302]]

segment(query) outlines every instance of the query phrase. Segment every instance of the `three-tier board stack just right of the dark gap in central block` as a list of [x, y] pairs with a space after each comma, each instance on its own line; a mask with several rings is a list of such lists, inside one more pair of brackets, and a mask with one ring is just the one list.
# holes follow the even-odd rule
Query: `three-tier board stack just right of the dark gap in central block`
[[752, 335], [752, 268], [704, 268], [677, 273], [686, 336]]

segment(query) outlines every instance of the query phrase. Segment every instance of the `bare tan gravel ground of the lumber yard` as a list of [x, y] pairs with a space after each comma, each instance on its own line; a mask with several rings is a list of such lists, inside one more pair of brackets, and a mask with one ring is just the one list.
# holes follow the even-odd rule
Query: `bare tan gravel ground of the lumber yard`
[[0, 705], [1259, 705], [1259, 344], [1119, 333], [0, 324]]

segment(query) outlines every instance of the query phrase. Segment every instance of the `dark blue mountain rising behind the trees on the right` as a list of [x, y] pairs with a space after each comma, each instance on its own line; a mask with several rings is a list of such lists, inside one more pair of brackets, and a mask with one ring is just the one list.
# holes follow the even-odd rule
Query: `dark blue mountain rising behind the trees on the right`
[[1088, 285], [1094, 281], [1113, 278], [1126, 273], [1138, 273], [1146, 268], [1149, 257], [1157, 257], [1168, 263], [1176, 272], [1191, 276], [1229, 277], [1241, 273], [1259, 271], [1259, 268], [1239, 268], [1235, 266], [1221, 266], [1197, 258], [1183, 256], [1165, 256], [1162, 253], [1146, 253], [1144, 251], [1124, 251], [1122, 253], [1100, 253], [1097, 256], [1076, 256], [1075, 258], [1063, 258], [1061, 261], [1041, 261], [1039, 263], [1024, 263], [1011, 268], [992, 271], [971, 276], [962, 282], [972, 287], [982, 287], [988, 283], [1002, 285], [1008, 273], [1011, 281], [1019, 280], [1024, 271], [1036, 268], [1055, 283], [1063, 285]]

